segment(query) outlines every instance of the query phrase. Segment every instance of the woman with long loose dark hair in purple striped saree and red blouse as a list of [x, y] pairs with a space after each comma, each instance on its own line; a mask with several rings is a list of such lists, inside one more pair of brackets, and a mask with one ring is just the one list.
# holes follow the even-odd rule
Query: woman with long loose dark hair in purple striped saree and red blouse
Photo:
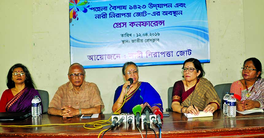
[[27, 67], [13, 65], [7, 74], [6, 85], [9, 89], [2, 94], [0, 112], [31, 112], [31, 101], [39, 93], [34, 89], [35, 84]]

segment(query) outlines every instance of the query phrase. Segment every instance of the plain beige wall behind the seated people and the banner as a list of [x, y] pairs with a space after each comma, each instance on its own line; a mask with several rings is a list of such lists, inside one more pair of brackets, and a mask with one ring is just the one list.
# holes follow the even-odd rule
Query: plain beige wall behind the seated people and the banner
[[[68, 81], [68, 0], [1, 0], [0, 5], [0, 94], [7, 89], [10, 67], [22, 63], [29, 68], [37, 89], [47, 90], [51, 100], [57, 88]], [[263, 5], [262, 0], [207, 0], [211, 63], [203, 66], [213, 85], [240, 79], [246, 58], [256, 57], [264, 65]], [[168, 106], [167, 89], [182, 79], [181, 67], [139, 67], [139, 80], [152, 84], [164, 108]], [[97, 84], [101, 91], [104, 113], [110, 113], [114, 91], [124, 83], [121, 68], [86, 72], [85, 80]]]

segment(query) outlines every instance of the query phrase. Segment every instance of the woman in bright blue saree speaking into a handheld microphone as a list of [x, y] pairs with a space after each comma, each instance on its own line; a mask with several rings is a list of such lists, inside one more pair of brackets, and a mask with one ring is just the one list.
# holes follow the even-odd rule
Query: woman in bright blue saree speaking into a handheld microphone
[[149, 83], [138, 81], [138, 66], [134, 62], [126, 62], [122, 73], [126, 82], [115, 90], [113, 112], [117, 111], [124, 102], [122, 108], [117, 111], [118, 113], [132, 113], [134, 106], [142, 106], [145, 102], [149, 103], [153, 110], [163, 111], [158, 92]]

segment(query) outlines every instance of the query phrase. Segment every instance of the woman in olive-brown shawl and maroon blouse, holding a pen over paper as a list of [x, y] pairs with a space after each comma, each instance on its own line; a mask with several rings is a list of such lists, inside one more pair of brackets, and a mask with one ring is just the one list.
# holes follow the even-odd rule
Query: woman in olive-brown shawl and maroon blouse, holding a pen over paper
[[203, 78], [199, 60], [189, 58], [183, 63], [184, 80], [175, 82], [172, 110], [178, 113], [199, 114], [199, 110], [213, 113], [220, 108], [220, 99], [210, 81]]

